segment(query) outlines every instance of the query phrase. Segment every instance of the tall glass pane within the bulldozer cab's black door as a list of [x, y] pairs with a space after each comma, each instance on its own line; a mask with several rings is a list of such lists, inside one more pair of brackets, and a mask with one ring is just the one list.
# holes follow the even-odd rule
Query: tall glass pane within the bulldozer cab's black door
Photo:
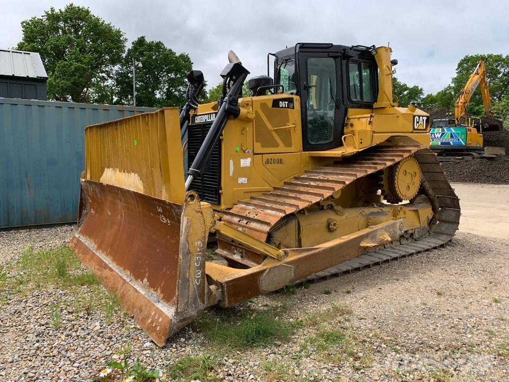
[[307, 59], [307, 141], [327, 143], [334, 131], [336, 63], [330, 57]]

